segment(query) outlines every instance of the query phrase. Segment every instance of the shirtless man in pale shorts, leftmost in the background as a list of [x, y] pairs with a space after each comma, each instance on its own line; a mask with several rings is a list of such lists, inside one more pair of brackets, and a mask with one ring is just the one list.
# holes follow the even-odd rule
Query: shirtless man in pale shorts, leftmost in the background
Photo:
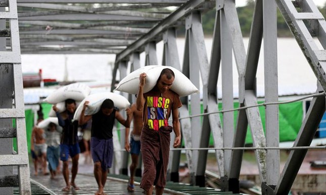
[[[37, 120], [38, 124], [43, 119], [40, 118]], [[31, 146], [30, 150], [32, 153], [32, 158], [34, 161], [34, 175], [37, 175], [37, 164], [41, 164], [43, 175], [49, 174], [46, 172], [46, 144], [44, 138], [44, 130], [36, 126], [33, 127], [32, 136], [31, 136]]]

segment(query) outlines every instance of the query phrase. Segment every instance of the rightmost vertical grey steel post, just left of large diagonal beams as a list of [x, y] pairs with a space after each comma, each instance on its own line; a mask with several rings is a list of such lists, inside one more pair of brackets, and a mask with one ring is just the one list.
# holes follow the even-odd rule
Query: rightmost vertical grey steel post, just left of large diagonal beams
[[[277, 20], [276, 4], [274, 1], [263, 1], [264, 20], [264, 79], [265, 102], [278, 102], [277, 81]], [[266, 118], [266, 145], [267, 147], [280, 146], [278, 129], [278, 105], [267, 105]], [[267, 185], [276, 186], [280, 177], [280, 151], [267, 150]]]

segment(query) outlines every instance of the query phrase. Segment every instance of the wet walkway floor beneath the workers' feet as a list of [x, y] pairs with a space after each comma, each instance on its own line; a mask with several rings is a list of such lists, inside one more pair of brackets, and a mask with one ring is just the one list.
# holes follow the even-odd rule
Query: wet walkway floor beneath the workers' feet
[[[91, 194], [94, 195], [97, 191], [97, 183], [94, 177], [93, 165], [91, 163], [83, 163], [83, 156], [80, 155], [78, 174], [75, 183], [80, 187], [79, 190], [62, 191], [65, 187], [65, 181], [62, 174], [58, 174], [55, 179], [51, 179], [50, 175], [31, 174], [32, 194]], [[71, 166], [71, 163], [70, 163]], [[31, 172], [33, 170], [31, 164]], [[71, 175], [70, 175], [71, 176]], [[104, 188], [106, 194], [144, 194], [143, 189], [139, 187], [139, 177], [135, 178], [134, 192], [127, 191], [128, 176], [126, 175], [108, 175], [108, 180]], [[14, 189], [15, 194], [19, 194], [17, 188]], [[214, 188], [191, 186], [184, 183], [167, 182], [164, 194], [232, 194], [231, 192], [222, 192]]]

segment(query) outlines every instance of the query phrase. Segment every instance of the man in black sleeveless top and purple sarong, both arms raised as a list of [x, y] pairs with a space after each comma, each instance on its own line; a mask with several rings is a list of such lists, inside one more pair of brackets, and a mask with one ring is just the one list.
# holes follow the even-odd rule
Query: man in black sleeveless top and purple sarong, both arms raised
[[79, 124], [82, 125], [88, 120], [91, 122], [90, 152], [94, 161], [94, 176], [98, 183], [96, 195], [104, 194], [104, 186], [107, 180], [108, 169], [113, 161], [113, 125], [117, 119], [122, 125], [129, 128], [130, 119], [127, 112], [125, 120], [120, 112], [114, 107], [111, 99], [106, 99], [101, 105], [100, 111], [93, 115], [85, 116], [85, 109], [88, 105], [85, 101], [80, 114]]

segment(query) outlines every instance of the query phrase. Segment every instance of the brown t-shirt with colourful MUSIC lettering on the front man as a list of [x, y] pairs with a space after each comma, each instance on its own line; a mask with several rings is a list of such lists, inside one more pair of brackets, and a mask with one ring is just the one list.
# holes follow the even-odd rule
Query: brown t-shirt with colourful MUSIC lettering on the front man
[[172, 108], [182, 106], [179, 95], [171, 90], [164, 94], [149, 91], [144, 94], [145, 105], [143, 112], [144, 125], [158, 131], [161, 126], [168, 126]]

